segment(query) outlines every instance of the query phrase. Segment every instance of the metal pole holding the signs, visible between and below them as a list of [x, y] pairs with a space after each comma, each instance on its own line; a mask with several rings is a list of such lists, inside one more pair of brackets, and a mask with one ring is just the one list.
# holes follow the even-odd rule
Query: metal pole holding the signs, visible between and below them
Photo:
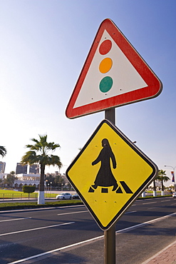
[[[105, 119], [115, 124], [115, 108], [105, 110]], [[115, 264], [115, 224], [104, 231], [104, 264]]]

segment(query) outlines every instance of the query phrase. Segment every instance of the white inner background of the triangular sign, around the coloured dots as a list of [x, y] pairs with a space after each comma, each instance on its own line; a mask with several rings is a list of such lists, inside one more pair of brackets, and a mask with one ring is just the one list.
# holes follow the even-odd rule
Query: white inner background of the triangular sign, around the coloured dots
[[[101, 55], [99, 53], [99, 47], [106, 39], [110, 39], [110, 41], [112, 41], [112, 48], [108, 54]], [[100, 44], [98, 45], [98, 49], [95, 51], [93, 61], [90, 64], [90, 68], [88, 69], [88, 73], [83, 81], [81, 91], [78, 94], [73, 108], [85, 106], [90, 103], [118, 96], [130, 91], [135, 91], [147, 86], [138, 71], [135, 70], [133, 65], [106, 30], [103, 32]], [[112, 59], [113, 66], [110, 68], [108, 73], [100, 73], [100, 62], [105, 58]], [[99, 83], [105, 76], [113, 78], [113, 86], [110, 91], [103, 93], [99, 89]]]

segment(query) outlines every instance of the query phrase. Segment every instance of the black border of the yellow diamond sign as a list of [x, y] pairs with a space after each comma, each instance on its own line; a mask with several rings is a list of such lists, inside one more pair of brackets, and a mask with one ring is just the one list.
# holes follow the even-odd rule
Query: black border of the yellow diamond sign
[[[147, 163], [148, 166], [150, 166], [150, 168], [152, 169], [152, 173], [150, 174], [150, 176], [148, 176], [148, 178], [143, 182], [143, 184], [140, 186], [140, 188], [138, 188], [138, 190], [135, 191], [135, 193], [133, 193], [132, 196], [130, 196], [129, 200], [125, 203], [125, 205], [123, 205], [123, 207], [118, 211], [118, 213], [115, 215], [115, 217], [112, 220], [110, 220], [110, 223], [108, 223], [108, 225], [106, 225], [106, 226], [102, 225], [102, 223], [100, 222], [98, 217], [95, 215], [95, 213], [93, 212], [92, 208], [90, 207], [90, 205], [88, 204], [86, 199], [83, 197], [81, 191], [78, 190], [77, 186], [72, 181], [72, 179], [71, 179], [72, 177], [69, 176], [69, 171], [71, 171], [71, 168], [73, 168], [76, 161], [78, 161], [78, 159], [81, 157], [82, 153], [86, 150], [89, 143], [93, 140], [93, 138], [98, 133], [98, 131], [100, 130], [100, 128], [103, 126], [104, 123], [106, 123], [110, 128], [112, 128], [113, 131], [115, 131], [115, 133], [117, 133], [118, 136], [120, 138], [122, 138], [122, 140], [125, 141], [125, 143], [127, 143], [128, 146], [130, 146], [130, 148], [132, 148], [133, 151], [135, 151], [135, 153], [137, 153], [138, 156], [140, 156], [143, 159], [143, 161], [145, 161], [145, 163]], [[98, 223], [98, 225], [100, 226], [100, 228], [103, 230], [108, 230], [116, 222], [116, 220], [118, 220], [118, 218], [120, 218], [120, 216], [122, 216], [123, 213], [125, 213], [125, 210], [127, 210], [129, 208], [129, 206], [138, 198], [138, 196], [140, 196], [140, 193], [143, 193], [143, 191], [145, 191], [145, 188], [147, 188], [147, 186], [155, 179], [155, 176], [157, 175], [157, 170], [158, 170], [157, 166], [155, 165], [155, 163], [153, 163], [150, 160], [150, 158], [148, 158], [142, 151], [140, 151], [140, 149], [137, 146], [135, 146], [135, 144], [132, 141], [130, 141], [130, 139], [128, 139], [115, 125], [113, 125], [113, 123], [111, 123], [110, 121], [105, 119], [105, 120], [101, 121], [101, 123], [98, 125], [98, 127], [93, 132], [92, 136], [90, 136], [90, 138], [88, 139], [86, 145], [83, 146], [80, 153], [78, 153], [78, 156], [76, 156], [76, 158], [71, 163], [71, 165], [68, 166], [68, 169], [66, 171], [66, 177], [68, 178], [68, 181], [71, 183], [71, 185], [76, 190], [78, 195], [81, 197], [81, 200], [83, 200], [83, 203], [85, 203], [86, 207], [88, 208], [90, 213], [93, 215], [93, 218], [95, 218], [95, 220]]]

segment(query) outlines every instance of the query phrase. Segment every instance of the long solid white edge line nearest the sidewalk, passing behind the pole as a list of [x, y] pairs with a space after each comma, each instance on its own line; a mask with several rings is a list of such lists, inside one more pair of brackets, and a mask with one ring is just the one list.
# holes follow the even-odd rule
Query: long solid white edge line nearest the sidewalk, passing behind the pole
[[[170, 216], [172, 215], [176, 215], [176, 213], [171, 213], [170, 215], [165, 215], [165, 216], [162, 216], [161, 218], [155, 218], [153, 220], [150, 220], [150, 221], [147, 221], [145, 223], [140, 223], [138, 225], [133, 225], [133, 226], [130, 226], [130, 228], [124, 228], [124, 229], [121, 229], [121, 230], [118, 230], [116, 231], [115, 233], [125, 233], [125, 232], [128, 232], [130, 230], [133, 230], [135, 228], [139, 228], [143, 225], [148, 225], [149, 223], [152, 223], [152, 222], [155, 222], [155, 221], [159, 221], [159, 220], [162, 220], [164, 218], [169, 218]], [[88, 239], [88, 240], [84, 240], [84, 241], [81, 241], [81, 242], [78, 242], [78, 243], [75, 243], [75, 244], [72, 244], [72, 245], [66, 245], [66, 247], [63, 247], [63, 248], [56, 248], [56, 249], [53, 249], [53, 250], [49, 250], [49, 251], [46, 251], [44, 253], [41, 253], [41, 254], [38, 254], [38, 255], [32, 255], [31, 257], [29, 258], [23, 258], [21, 260], [16, 260], [14, 262], [11, 262], [11, 263], [8, 263], [8, 264], [17, 264], [17, 263], [22, 263], [24, 261], [27, 261], [27, 260], [31, 260], [33, 258], [39, 258], [43, 255], [47, 255], [47, 254], [51, 254], [51, 253], [54, 253], [54, 252], [57, 252], [57, 251], [61, 251], [61, 250], [64, 250], [64, 249], [67, 249], [67, 248], [72, 248], [76, 245], [81, 245], [81, 244], [84, 244], [84, 243], [88, 243], [88, 242], [92, 242], [93, 240], [100, 240], [104, 237], [104, 235], [100, 235], [96, 238], [91, 238], [91, 239]]]

